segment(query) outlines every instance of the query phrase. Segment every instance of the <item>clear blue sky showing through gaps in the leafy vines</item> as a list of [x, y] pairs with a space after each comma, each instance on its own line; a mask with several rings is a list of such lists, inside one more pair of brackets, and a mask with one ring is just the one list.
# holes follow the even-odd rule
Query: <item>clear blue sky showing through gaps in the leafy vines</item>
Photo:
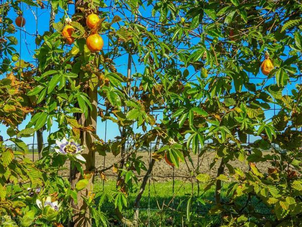
[[[23, 10], [23, 14], [24, 14], [24, 18], [26, 19], [26, 25], [25, 27], [20, 30], [18, 29], [15, 36], [20, 40], [21, 37], [21, 42], [20, 44], [18, 44], [16, 46], [16, 49], [18, 52], [21, 53], [21, 59], [24, 59], [25, 61], [28, 62], [32, 62], [33, 64], [35, 64], [35, 60], [32, 58], [34, 50], [36, 49], [36, 44], [35, 44], [35, 35], [36, 32], [37, 34], [43, 34], [45, 31], [48, 31], [49, 29], [49, 8], [48, 9], [36, 9], [35, 7], [30, 8], [28, 7], [26, 4], [21, 3], [21, 8]], [[69, 10], [67, 11], [68, 14], [72, 15], [73, 14], [73, 6], [69, 5]], [[144, 16], [145, 15], [150, 15], [151, 12], [151, 7], [146, 8], [145, 11], [141, 12]], [[18, 15], [14, 12], [11, 11], [9, 13], [9, 17], [12, 18], [14, 21], [16, 19]], [[63, 16], [63, 12], [60, 12], [57, 16], [56, 16], [56, 21], [58, 21], [61, 17]], [[121, 17], [123, 17], [122, 15], [120, 15]], [[155, 15], [155, 16], [159, 16], [159, 15]], [[38, 18], [38, 20], [36, 20], [36, 17]], [[112, 15], [110, 15], [111, 18], [113, 18]], [[108, 46], [108, 39], [105, 35], [102, 35], [103, 39], [104, 39], [104, 47], [103, 50], [106, 52], [106, 50], [108, 48], [110, 48]], [[196, 40], [196, 42], [198, 42], [199, 40]], [[65, 47], [67, 50], [67, 47]], [[21, 50], [21, 51], [20, 51]], [[284, 59], [286, 59], [286, 56], [283, 57]], [[134, 60], [137, 61], [137, 58], [134, 57]], [[117, 58], [115, 60], [115, 63], [117, 65], [117, 70], [119, 73], [122, 73], [124, 75], [127, 74], [127, 55], [122, 55], [121, 57]], [[137, 64], [137, 62], [136, 62]], [[132, 66], [132, 74], [133, 73], [143, 73], [144, 67], [143, 65], [136, 65], [136, 71], [134, 66]], [[190, 74], [193, 74], [194, 71], [192, 69], [189, 70]], [[257, 75], [257, 77], [251, 76], [250, 82], [252, 83], [260, 83], [263, 81], [264, 76], [263, 75]], [[271, 78], [270, 81], [267, 83], [267, 85], [274, 83], [274, 79]], [[288, 94], [291, 94], [291, 89], [294, 88], [294, 84], [292, 85], [288, 85], [287, 89], [283, 90], [283, 93], [286, 94], [286, 92], [288, 92]], [[271, 105], [271, 107], [273, 108], [274, 106]], [[275, 106], [277, 108], [277, 106]], [[266, 117], [271, 117], [274, 114], [276, 114], [278, 112], [278, 110], [267, 110], [265, 112]], [[26, 118], [26, 120], [19, 126], [19, 129], [24, 129], [25, 126], [27, 125], [28, 121], [30, 120], [30, 116], [28, 116]], [[107, 128], [106, 128], [107, 127]], [[136, 128], [136, 126], [134, 126], [134, 128]], [[7, 128], [3, 125], [0, 126], [0, 132], [1, 135], [4, 136], [4, 139], [9, 138], [8, 135], [6, 134], [6, 130]], [[51, 129], [51, 132], [54, 132], [57, 130], [57, 124], [54, 122], [53, 127]], [[105, 135], [105, 131], [106, 131], [106, 135]], [[138, 129], [139, 131], [139, 129]], [[44, 132], [44, 142], [47, 141], [47, 136], [48, 136], [49, 132]], [[102, 138], [102, 139], [106, 139], [107, 141], [109, 139], [114, 139], [114, 137], [116, 137], [117, 135], [119, 135], [119, 131], [118, 131], [118, 127], [116, 124], [112, 123], [111, 121], [107, 121], [106, 122], [102, 122], [101, 118], [98, 117], [98, 125], [97, 125], [97, 134]], [[106, 136], [106, 137], [105, 137]], [[251, 140], [255, 140], [255, 138], [252, 138]], [[31, 144], [33, 143], [33, 138], [24, 138], [24, 141], [27, 144]], [[36, 139], [35, 139], [35, 143], [36, 143]]]

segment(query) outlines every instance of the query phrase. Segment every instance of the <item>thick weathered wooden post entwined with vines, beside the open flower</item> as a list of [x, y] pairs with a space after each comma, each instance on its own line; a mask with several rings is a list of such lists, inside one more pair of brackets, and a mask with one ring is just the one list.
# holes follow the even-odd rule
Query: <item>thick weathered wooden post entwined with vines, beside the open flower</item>
[[[75, 0], [75, 11], [78, 11], [78, 7], [84, 6], [83, 0]], [[84, 24], [83, 24], [84, 25]], [[84, 25], [85, 26], [85, 25]], [[87, 88], [84, 92], [88, 94], [90, 102], [92, 104], [92, 110], [88, 110], [88, 117], [85, 118], [84, 113], [77, 117], [78, 123], [84, 127], [92, 127], [94, 131], [87, 132], [81, 131], [80, 138], [81, 138], [81, 145], [84, 145], [85, 148], [82, 151], [83, 157], [86, 159], [86, 162], [82, 164], [82, 168], [85, 174], [90, 174], [95, 169], [95, 152], [92, 150], [94, 136], [97, 130], [97, 86], [93, 89], [90, 87]], [[79, 173], [77, 168], [71, 168], [70, 166], [70, 176], [69, 181], [71, 187], [74, 188], [75, 185], [79, 180], [82, 179], [81, 173]], [[74, 209], [74, 216], [72, 220], [68, 223], [69, 226], [76, 226], [76, 227], [89, 227], [92, 226], [92, 218], [90, 211], [85, 203], [84, 198], [89, 198], [93, 193], [93, 184], [94, 184], [94, 174], [89, 179], [89, 183], [87, 187], [78, 192], [78, 203], [76, 204], [73, 200], [71, 200], [70, 205]], [[84, 210], [84, 212], [81, 212]]]

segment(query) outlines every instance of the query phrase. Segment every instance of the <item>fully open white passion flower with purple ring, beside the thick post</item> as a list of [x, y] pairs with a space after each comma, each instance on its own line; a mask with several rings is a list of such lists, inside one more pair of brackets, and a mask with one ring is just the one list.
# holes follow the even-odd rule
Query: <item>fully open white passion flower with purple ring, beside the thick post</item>
[[55, 152], [62, 155], [73, 156], [80, 161], [86, 161], [85, 158], [80, 154], [83, 150], [83, 146], [74, 142], [74, 140], [62, 139], [61, 141], [56, 140], [58, 148], [54, 148]]

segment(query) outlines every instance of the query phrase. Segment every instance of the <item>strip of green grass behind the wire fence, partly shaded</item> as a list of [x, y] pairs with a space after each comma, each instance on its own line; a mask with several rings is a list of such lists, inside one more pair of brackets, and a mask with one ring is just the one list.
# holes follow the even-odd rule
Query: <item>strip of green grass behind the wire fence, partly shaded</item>
[[[115, 189], [115, 181], [109, 180], [104, 183], [104, 192], [110, 193], [111, 190]], [[228, 185], [224, 185], [221, 193], [222, 199], [228, 201], [225, 198], [225, 192]], [[95, 185], [95, 191], [99, 192], [103, 190], [103, 182], [97, 181]], [[193, 184], [193, 193], [196, 200], [197, 199], [197, 183]], [[200, 199], [205, 201], [193, 203], [191, 206], [190, 221], [186, 217], [187, 201], [189, 193], [192, 192], [191, 183], [184, 183], [182, 181], [175, 181], [174, 183], [175, 199], [170, 204], [169, 202], [173, 198], [173, 182], [150, 182], [147, 184], [145, 191], [142, 195], [140, 201], [140, 226], [220, 226], [221, 225], [221, 215], [209, 215], [208, 210], [210, 202], [214, 202], [214, 189], [202, 194], [200, 189]], [[129, 209], [125, 209], [123, 214], [126, 218], [133, 219], [133, 202], [136, 197], [136, 192], [130, 193], [128, 196]], [[240, 198], [237, 202], [239, 204], [244, 204], [247, 197], [244, 196]], [[169, 205], [168, 205], [169, 204]], [[251, 201], [251, 206], [257, 208], [259, 213], [269, 213], [269, 208], [264, 204], [259, 203], [257, 200]], [[103, 212], [107, 214], [110, 222], [113, 226], [119, 226], [117, 218], [114, 214], [114, 208], [112, 203], [104, 202], [101, 206]], [[194, 212], [195, 211], [195, 212]], [[257, 222], [257, 220], [251, 220]]]

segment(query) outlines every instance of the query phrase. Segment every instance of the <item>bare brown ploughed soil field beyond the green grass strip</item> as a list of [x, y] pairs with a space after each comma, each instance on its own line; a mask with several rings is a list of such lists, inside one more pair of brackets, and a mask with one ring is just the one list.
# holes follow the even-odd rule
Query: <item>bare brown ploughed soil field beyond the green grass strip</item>
[[[141, 160], [144, 161], [146, 168], [148, 168], [149, 164], [149, 153], [148, 152], [137, 152], [137, 156], [142, 156]], [[209, 174], [210, 176], [214, 177], [217, 173], [217, 168], [219, 165], [220, 160], [216, 162], [216, 164], [210, 169], [210, 164], [212, 160], [214, 159], [214, 153], [213, 152], [206, 152], [203, 156], [198, 158], [198, 155], [192, 154], [192, 163], [189, 162], [188, 158], [186, 158], [187, 164], [185, 162], [180, 162], [179, 168], [172, 167], [169, 164], [166, 163], [164, 159], [156, 161], [155, 165], [153, 167], [151, 178], [154, 181], [171, 181], [173, 178], [175, 180], [186, 180], [190, 178], [190, 173], [194, 173], [193, 176], [197, 175], [197, 173], [203, 173], [203, 174]], [[28, 154], [28, 158], [32, 159], [32, 154]], [[37, 160], [38, 155], [34, 154], [35, 160]], [[118, 163], [120, 160], [120, 155], [114, 156], [112, 153], [107, 153], [105, 158], [104, 156], [101, 156], [99, 154], [96, 154], [96, 168], [99, 170], [111, 166], [114, 163]], [[104, 165], [105, 163], [105, 165]], [[66, 162], [66, 168], [68, 168], [69, 163]], [[248, 163], [247, 162], [240, 162], [239, 160], [236, 161], [230, 161], [229, 164], [231, 164], [233, 167], [239, 167], [243, 171], [248, 171]], [[199, 166], [199, 168], [198, 168]], [[259, 162], [256, 163], [256, 166], [260, 169], [262, 173], [266, 173], [268, 167], [271, 167], [269, 162]], [[199, 169], [199, 171], [198, 171]], [[68, 176], [69, 171], [66, 169], [61, 173], [63, 176]], [[104, 172], [106, 179], [115, 179], [116, 173], [113, 172], [112, 168]], [[139, 180], [142, 179], [144, 176], [145, 171], [141, 171], [140, 175], [135, 175], [138, 177]], [[228, 175], [228, 169], [225, 168], [225, 175]], [[99, 176], [98, 176], [99, 177]]]

